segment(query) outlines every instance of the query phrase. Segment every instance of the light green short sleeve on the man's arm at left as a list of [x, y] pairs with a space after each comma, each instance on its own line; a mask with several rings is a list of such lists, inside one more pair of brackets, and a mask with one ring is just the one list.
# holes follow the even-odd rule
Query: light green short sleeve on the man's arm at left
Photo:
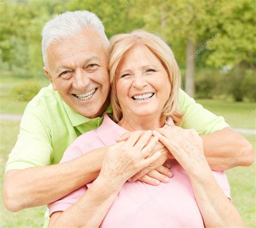
[[28, 106], [19, 126], [17, 142], [5, 165], [5, 172], [51, 164], [53, 151], [48, 128], [33, 111], [33, 107]]

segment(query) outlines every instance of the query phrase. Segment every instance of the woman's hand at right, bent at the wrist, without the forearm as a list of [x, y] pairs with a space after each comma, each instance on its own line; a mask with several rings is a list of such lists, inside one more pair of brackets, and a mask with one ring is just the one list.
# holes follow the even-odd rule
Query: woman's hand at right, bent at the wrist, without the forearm
[[153, 131], [187, 171], [196, 171], [208, 165], [204, 156], [203, 141], [194, 129], [183, 129], [177, 126], [159, 128]]

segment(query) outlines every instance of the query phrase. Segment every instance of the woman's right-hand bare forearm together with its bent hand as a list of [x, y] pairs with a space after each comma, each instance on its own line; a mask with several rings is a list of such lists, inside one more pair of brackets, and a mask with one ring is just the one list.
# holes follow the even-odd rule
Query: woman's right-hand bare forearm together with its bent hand
[[239, 213], [215, 181], [203, 151], [203, 141], [196, 130], [179, 127], [158, 129], [159, 137], [190, 176], [206, 227], [242, 227]]

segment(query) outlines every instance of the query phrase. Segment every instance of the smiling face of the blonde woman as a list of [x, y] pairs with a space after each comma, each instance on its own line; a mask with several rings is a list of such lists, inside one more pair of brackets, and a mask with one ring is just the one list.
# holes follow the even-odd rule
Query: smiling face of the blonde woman
[[117, 98], [123, 116], [160, 118], [171, 84], [161, 61], [144, 45], [125, 54], [116, 72]]

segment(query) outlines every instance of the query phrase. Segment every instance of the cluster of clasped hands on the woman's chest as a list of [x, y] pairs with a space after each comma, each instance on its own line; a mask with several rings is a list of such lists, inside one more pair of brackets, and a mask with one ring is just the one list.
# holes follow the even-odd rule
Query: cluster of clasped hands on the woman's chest
[[153, 132], [129, 132], [116, 141], [118, 143], [111, 146], [103, 162], [103, 170], [122, 181], [138, 179], [151, 185], [167, 183], [173, 176], [169, 159], [176, 159], [187, 171], [199, 162], [206, 162], [203, 142], [193, 129], [165, 126]]

